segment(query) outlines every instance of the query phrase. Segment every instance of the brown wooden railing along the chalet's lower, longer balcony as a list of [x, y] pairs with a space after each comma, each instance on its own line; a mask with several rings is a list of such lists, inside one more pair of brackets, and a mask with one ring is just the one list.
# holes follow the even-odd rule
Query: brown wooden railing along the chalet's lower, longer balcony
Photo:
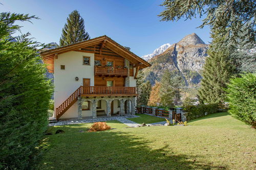
[[136, 87], [83, 87], [82, 94], [136, 94]]

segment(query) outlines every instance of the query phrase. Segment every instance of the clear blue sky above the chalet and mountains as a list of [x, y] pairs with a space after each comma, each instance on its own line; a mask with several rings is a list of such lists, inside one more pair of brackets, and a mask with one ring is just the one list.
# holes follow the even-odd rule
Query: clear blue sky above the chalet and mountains
[[142, 56], [152, 53], [165, 43], [178, 42], [187, 34], [196, 33], [207, 43], [209, 28], [197, 29], [202, 18], [179, 21], [160, 21], [157, 15], [163, 10], [160, 0], [140, 1], [58, 1], [58, 0], [0, 0], [0, 11], [29, 13], [40, 19], [17, 22], [24, 26], [22, 33], [30, 32], [42, 43], [57, 42], [68, 15], [78, 10], [85, 21], [91, 38], [107, 35], [131, 51]]

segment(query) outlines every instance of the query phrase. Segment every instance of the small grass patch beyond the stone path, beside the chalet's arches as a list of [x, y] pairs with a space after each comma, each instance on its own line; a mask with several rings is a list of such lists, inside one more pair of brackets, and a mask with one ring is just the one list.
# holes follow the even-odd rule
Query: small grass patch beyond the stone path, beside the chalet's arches
[[133, 122], [135, 122], [137, 124], [142, 124], [142, 123], [152, 124], [152, 123], [165, 121], [164, 118], [155, 117], [155, 116], [151, 116], [151, 115], [147, 115], [147, 114], [136, 114], [136, 115], [140, 116], [140, 117], [133, 117], [133, 118], [127, 118], [127, 119], [132, 120]]

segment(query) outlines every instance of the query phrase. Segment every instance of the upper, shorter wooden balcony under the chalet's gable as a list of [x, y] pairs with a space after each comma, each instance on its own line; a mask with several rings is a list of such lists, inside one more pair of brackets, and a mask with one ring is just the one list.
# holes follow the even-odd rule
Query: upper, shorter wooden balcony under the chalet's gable
[[94, 75], [96, 76], [117, 76], [127, 77], [127, 68], [124, 67], [109, 67], [109, 66], [94, 66]]

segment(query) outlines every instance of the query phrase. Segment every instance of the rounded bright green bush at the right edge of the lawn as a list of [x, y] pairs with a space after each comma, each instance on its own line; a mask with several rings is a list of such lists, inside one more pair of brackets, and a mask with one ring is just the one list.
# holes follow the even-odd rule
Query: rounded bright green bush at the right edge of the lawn
[[248, 125], [256, 127], [256, 74], [230, 79], [227, 85], [229, 113]]

